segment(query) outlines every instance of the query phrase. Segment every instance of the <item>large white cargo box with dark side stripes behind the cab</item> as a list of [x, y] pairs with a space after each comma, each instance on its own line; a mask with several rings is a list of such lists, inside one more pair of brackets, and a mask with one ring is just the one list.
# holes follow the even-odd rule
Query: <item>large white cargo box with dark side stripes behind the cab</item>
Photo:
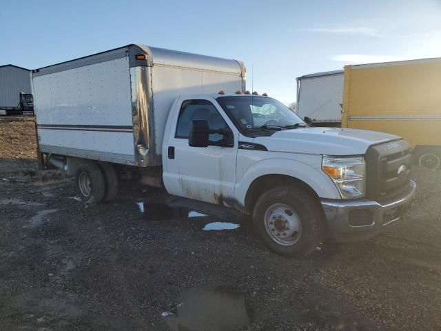
[[161, 165], [163, 130], [176, 97], [244, 89], [240, 61], [143, 45], [33, 70], [39, 149]]

